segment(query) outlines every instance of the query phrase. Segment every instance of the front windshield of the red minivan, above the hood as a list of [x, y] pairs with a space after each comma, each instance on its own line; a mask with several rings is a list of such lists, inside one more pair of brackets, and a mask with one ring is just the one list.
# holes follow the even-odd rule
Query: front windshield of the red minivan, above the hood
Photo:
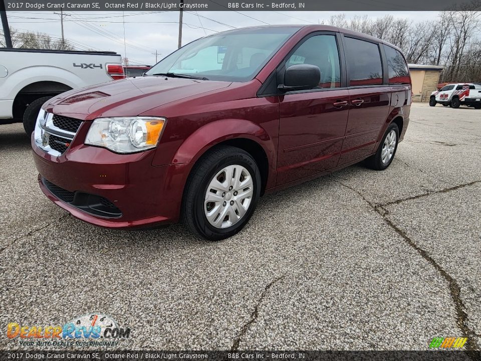
[[173, 52], [145, 75], [249, 81], [298, 30], [299, 27], [267, 27], [211, 35]]

